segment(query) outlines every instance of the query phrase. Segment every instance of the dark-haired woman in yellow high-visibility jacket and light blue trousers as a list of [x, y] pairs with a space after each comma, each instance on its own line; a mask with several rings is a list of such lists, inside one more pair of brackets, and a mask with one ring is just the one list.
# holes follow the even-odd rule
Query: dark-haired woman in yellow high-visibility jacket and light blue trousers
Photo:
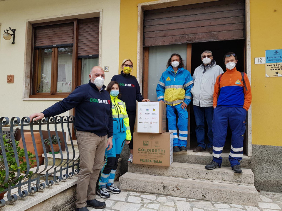
[[99, 178], [99, 189], [97, 195], [101, 198], [109, 198], [110, 193], [118, 194], [120, 189], [114, 184], [117, 162], [124, 143], [130, 143], [131, 134], [125, 103], [118, 99], [120, 97], [120, 86], [116, 81], [111, 81], [106, 89], [111, 96], [113, 111], [113, 147], [105, 151], [106, 162]]

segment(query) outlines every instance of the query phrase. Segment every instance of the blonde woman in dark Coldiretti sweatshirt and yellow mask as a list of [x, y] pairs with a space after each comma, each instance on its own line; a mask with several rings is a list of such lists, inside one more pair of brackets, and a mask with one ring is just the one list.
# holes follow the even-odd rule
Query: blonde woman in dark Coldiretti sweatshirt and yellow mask
[[133, 130], [135, 125], [136, 118], [136, 101], [146, 102], [150, 101], [144, 99], [140, 93], [140, 86], [138, 84], [135, 76], [130, 75], [130, 72], [133, 68], [133, 63], [130, 59], [124, 59], [122, 65], [120, 66], [122, 71], [119, 75], [115, 75], [112, 78], [112, 81], [117, 81], [120, 85], [120, 93], [122, 93], [120, 100], [125, 102], [128, 118], [129, 118], [129, 127], [131, 132], [131, 142], [128, 144], [130, 149], [130, 156], [128, 162], [132, 163], [132, 152], [133, 152]]

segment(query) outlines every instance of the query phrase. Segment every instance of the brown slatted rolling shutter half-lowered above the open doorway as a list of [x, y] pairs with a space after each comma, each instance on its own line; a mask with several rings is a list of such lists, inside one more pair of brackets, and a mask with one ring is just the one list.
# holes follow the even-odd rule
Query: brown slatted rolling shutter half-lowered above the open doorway
[[244, 0], [221, 0], [144, 11], [144, 46], [244, 38]]

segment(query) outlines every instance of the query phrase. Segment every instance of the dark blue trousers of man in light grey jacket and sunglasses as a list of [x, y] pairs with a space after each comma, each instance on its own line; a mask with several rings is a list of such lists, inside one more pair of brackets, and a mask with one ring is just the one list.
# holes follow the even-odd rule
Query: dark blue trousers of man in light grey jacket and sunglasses
[[209, 143], [207, 144], [208, 148], [212, 147], [212, 139], [214, 135], [212, 133], [212, 119], [214, 115], [214, 108], [212, 106], [209, 107], [199, 107], [193, 105], [195, 120], [196, 120], [196, 137], [197, 144], [199, 147], [206, 148], [205, 144], [205, 116], [208, 125], [208, 137]]

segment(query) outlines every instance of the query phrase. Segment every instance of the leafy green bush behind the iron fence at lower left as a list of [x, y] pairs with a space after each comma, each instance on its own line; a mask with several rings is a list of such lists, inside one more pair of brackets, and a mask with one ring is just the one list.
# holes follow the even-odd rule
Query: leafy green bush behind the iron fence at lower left
[[[6, 169], [5, 169], [5, 164], [3, 160], [3, 154], [2, 154], [2, 149], [0, 146], [0, 192], [5, 190], [5, 188], [8, 188], [8, 186], [11, 184], [11, 186], [15, 186], [19, 180], [21, 180], [24, 175], [19, 176], [16, 180], [14, 180], [17, 176], [17, 171], [20, 169], [21, 173], [26, 173], [27, 170], [27, 164], [26, 164], [26, 157], [24, 154], [24, 149], [21, 149], [19, 147], [19, 141], [16, 142], [16, 149], [17, 149], [17, 154], [19, 157], [19, 166], [17, 166], [16, 163], [16, 158], [15, 158], [15, 153], [13, 149], [13, 143], [12, 142], [7, 142], [6, 140], [6, 135], [3, 136], [3, 141], [4, 141], [4, 147], [5, 147], [5, 152], [6, 152], [6, 158], [8, 162], [8, 168], [9, 168], [9, 178], [6, 183], [4, 183], [5, 176], [6, 176]], [[35, 157], [34, 154], [31, 152], [27, 152], [28, 154], [28, 160], [29, 164], [33, 165], [35, 160], [33, 159]], [[33, 172], [29, 171], [27, 177], [31, 176]]]

